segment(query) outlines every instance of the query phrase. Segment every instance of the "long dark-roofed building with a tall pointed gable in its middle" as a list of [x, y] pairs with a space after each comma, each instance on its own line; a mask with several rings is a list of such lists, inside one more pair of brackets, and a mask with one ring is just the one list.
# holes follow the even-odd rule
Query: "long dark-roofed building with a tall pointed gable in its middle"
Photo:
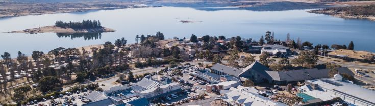
[[[347, 67], [337, 68], [338, 73], [346, 73], [353, 76], [354, 73]], [[252, 80], [255, 83], [272, 83], [272, 84], [287, 84], [296, 83], [298, 81], [313, 80], [320, 78], [329, 78], [328, 73], [330, 69], [302, 69], [290, 71], [272, 71], [268, 67], [259, 62], [247, 66], [240, 70], [229, 66], [215, 64], [211, 67], [211, 72], [217, 75], [232, 75], [235, 77], [242, 77]]]

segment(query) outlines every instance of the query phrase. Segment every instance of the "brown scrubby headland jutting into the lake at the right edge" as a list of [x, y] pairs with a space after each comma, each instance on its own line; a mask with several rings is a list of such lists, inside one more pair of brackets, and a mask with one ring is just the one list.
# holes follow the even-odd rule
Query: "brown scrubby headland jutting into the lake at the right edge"
[[310, 13], [327, 14], [334, 17], [348, 19], [368, 19], [375, 21], [375, 5], [329, 7], [326, 9], [311, 10]]

